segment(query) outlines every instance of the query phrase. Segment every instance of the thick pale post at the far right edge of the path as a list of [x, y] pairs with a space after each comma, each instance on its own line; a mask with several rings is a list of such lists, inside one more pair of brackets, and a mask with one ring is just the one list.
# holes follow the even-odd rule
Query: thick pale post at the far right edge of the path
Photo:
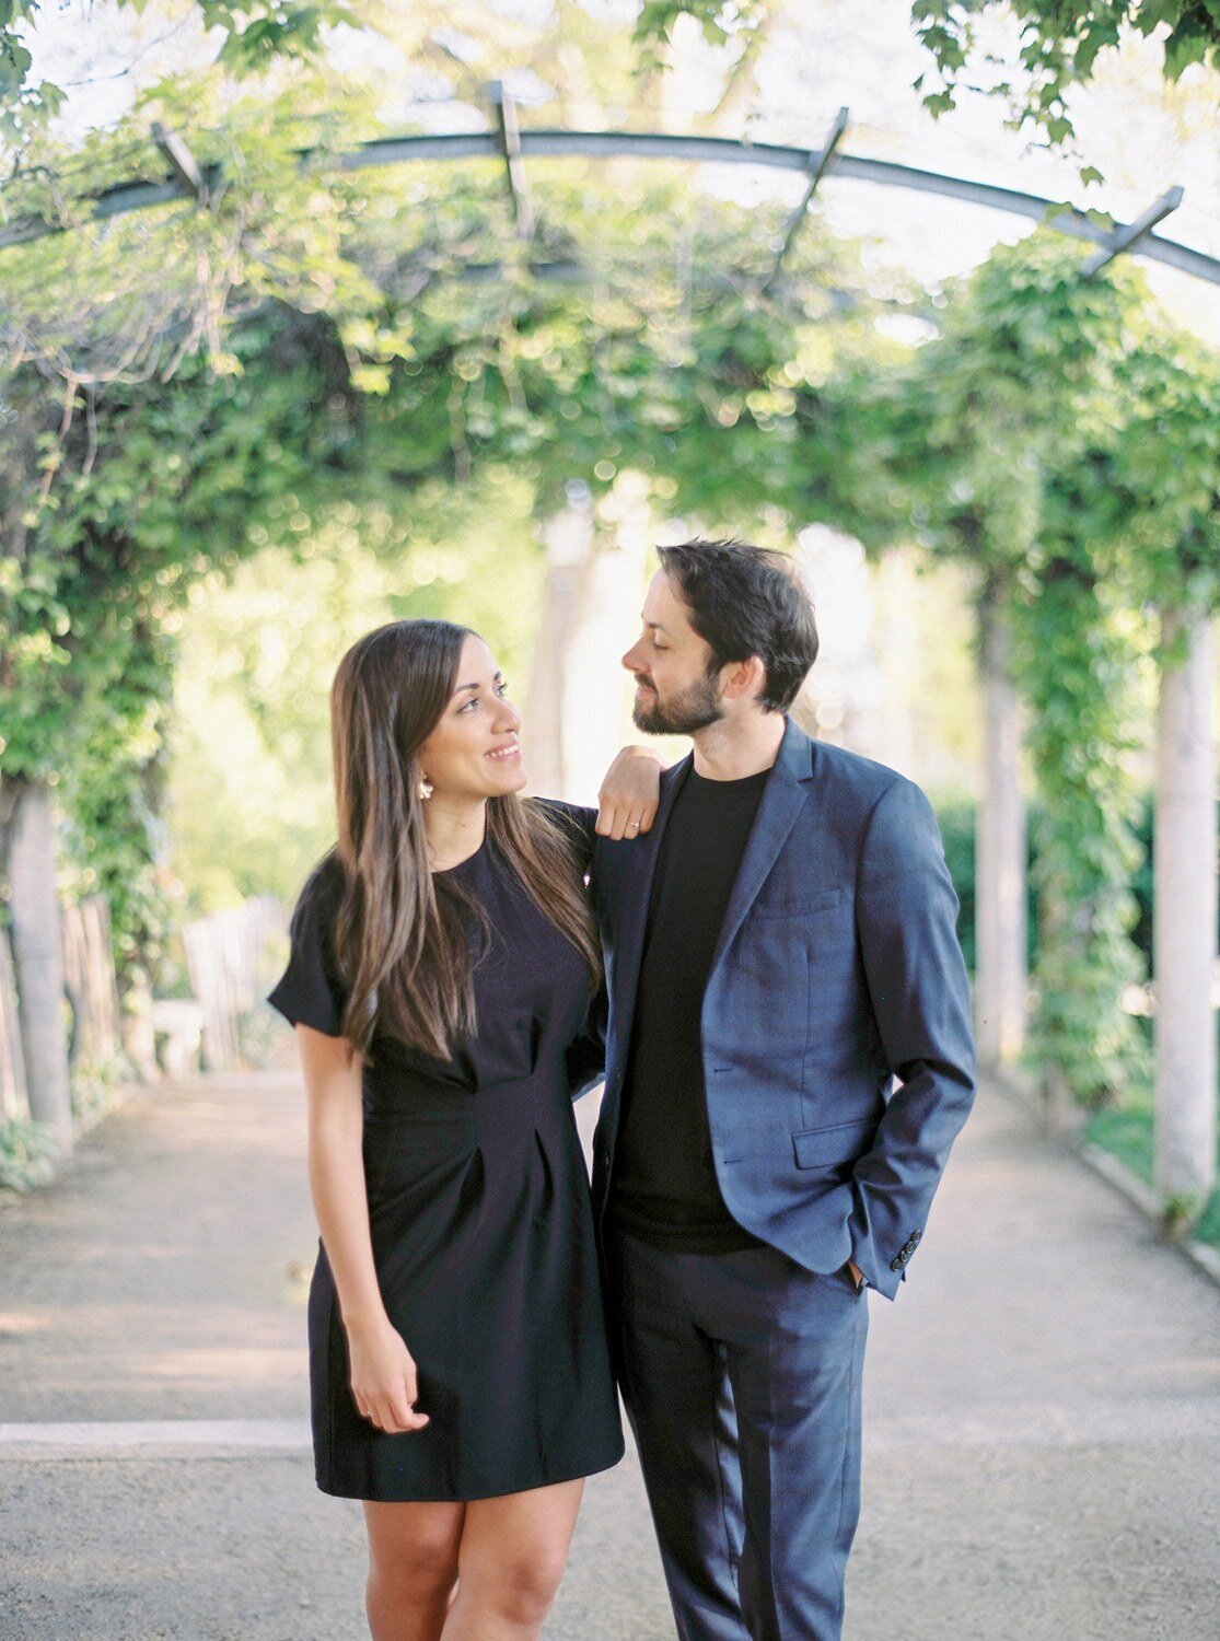
[[1186, 660], [1161, 674], [1153, 970], [1156, 1186], [1189, 1211], [1215, 1183], [1217, 758], [1207, 617], [1163, 617]]

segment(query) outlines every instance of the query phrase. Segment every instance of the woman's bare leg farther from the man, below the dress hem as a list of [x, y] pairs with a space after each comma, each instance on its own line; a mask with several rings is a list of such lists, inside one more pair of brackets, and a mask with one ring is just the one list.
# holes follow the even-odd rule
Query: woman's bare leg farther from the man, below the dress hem
[[373, 1641], [440, 1641], [468, 1508], [365, 1500], [365, 1608]]

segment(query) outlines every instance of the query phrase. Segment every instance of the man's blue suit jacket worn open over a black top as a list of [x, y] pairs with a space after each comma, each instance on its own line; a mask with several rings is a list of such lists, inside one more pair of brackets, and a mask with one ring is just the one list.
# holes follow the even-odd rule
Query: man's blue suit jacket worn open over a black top
[[[662, 775], [639, 842], [596, 839], [606, 1213], [657, 850], [693, 758]], [[713, 1159], [732, 1218], [814, 1272], [849, 1257], [898, 1291], [974, 1099], [957, 896], [928, 799], [788, 719], [703, 999]], [[681, 1145], [683, 1136], [675, 1134]]]

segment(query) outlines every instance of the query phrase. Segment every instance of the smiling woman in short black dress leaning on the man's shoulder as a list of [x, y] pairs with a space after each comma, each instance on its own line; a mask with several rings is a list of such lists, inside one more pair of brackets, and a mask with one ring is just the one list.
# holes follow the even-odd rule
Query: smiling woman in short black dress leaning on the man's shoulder
[[[571, 1116], [596, 1070], [589, 812], [516, 796], [506, 688], [448, 622], [343, 656], [338, 845], [271, 994], [297, 1029], [322, 1232], [317, 1482], [365, 1502], [374, 1641], [537, 1636], [583, 1477], [622, 1456]], [[657, 765], [637, 768], [619, 835], [650, 820]]]

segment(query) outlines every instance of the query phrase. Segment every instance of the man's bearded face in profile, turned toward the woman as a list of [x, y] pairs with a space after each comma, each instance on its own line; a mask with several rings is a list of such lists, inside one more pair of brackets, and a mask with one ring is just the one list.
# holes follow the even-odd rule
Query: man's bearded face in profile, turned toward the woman
[[647, 735], [695, 735], [719, 724], [724, 707], [719, 679], [708, 676], [711, 648], [663, 569], [652, 578], [640, 620], [644, 632], [622, 656], [635, 676], [635, 727]]

